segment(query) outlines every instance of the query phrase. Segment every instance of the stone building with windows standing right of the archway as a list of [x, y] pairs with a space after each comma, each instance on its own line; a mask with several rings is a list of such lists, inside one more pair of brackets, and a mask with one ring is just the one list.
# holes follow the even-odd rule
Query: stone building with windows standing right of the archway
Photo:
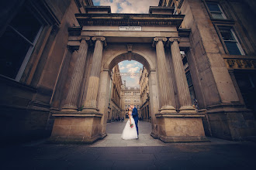
[[183, 49], [183, 63], [195, 105], [206, 113], [206, 134], [233, 140], [254, 136], [256, 25], [250, 20], [255, 2], [165, 0], [159, 6], [185, 15], [181, 29], [190, 29], [190, 47]]

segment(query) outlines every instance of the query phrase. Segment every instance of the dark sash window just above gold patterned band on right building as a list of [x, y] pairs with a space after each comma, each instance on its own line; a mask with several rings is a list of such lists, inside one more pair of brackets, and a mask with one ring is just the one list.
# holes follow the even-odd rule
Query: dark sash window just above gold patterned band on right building
[[223, 42], [225, 43], [230, 55], [244, 55], [244, 51], [241, 48], [233, 29], [225, 26], [219, 26], [219, 29]]

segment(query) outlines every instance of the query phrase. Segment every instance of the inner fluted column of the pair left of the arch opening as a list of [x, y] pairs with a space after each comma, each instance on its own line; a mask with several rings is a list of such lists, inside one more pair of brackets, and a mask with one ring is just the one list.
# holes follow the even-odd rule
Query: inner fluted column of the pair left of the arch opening
[[88, 82], [88, 90], [85, 98], [85, 109], [83, 112], [97, 113], [97, 95], [99, 89], [99, 73], [102, 66], [102, 52], [105, 37], [92, 37], [95, 41], [94, 53], [92, 56], [92, 68]]

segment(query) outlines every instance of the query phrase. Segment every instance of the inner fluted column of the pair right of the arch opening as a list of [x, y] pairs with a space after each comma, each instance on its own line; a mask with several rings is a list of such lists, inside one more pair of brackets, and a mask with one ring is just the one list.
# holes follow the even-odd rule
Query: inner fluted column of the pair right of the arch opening
[[157, 74], [160, 87], [160, 113], [176, 113], [175, 107], [173, 107], [175, 104], [173, 104], [173, 100], [171, 100], [171, 97], [175, 97], [175, 93], [168, 80], [170, 77], [168, 76], [164, 53], [164, 42], [166, 41], [166, 38], [154, 38], [157, 51]]

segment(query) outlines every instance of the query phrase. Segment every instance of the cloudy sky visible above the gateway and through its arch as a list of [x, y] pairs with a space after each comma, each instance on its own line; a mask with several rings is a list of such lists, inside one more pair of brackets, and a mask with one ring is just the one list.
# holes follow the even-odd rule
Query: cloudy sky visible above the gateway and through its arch
[[[148, 13], [150, 6], [157, 6], [159, 0], [92, 0], [95, 6], [110, 6], [112, 13]], [[143, 68], [137, 61], [119, 63], [120, 73], [140, 73]], [[122, 76], [126, 87], [140, 87], [138, 76]]]

